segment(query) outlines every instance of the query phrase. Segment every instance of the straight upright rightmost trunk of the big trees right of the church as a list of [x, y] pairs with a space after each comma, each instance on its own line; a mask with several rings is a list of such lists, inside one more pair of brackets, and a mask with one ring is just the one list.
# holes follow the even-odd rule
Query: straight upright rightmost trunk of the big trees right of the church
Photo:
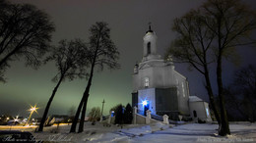
[[217, 82], [218, 82], [218, 93], [220, 100], [220, 108], [221, 108], [221, 128], [219, 130], [219, 135], [225, 136], [230, 134], [228, 119], [226, 115], [226, 110], [224, 107], [224, 87], [223, 87], [223, 75], [222, 75], [222, 56], [223, 52], [220, 49], [219, 57], [218, 57], [218, 65], [217, 65]]

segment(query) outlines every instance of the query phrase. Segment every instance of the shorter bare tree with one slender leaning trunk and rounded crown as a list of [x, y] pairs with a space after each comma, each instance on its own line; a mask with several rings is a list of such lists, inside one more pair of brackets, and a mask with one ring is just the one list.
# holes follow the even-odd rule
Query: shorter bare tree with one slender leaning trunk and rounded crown
[[58, 73], [52, 80], [57, 82], [57, 85], [53, 89], [50, 99], [46, 105], [38, 131], [42, 131], [43, 129], [51, 102], [61, 82], [64, 81], [65, 78], [73, 80], [76, 77], [85, 77], [86, 68], [89, 64], [87, 61], [87, 50], [85, 43], [79, 39], [74, 41], [61, 40], [57, 47], [52, 48], [51, 55], [46, 58], [45, 62], [55, 62]]

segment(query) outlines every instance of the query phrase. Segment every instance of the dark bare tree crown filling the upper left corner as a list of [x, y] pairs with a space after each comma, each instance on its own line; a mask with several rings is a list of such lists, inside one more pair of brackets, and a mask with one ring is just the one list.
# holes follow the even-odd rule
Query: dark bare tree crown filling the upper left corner
[[25, 58], [27, 66], [37, 68], [47, 52], [54, 26], [43, 11], [29, 4], [0, 0], [0, 70], [9, 62]]

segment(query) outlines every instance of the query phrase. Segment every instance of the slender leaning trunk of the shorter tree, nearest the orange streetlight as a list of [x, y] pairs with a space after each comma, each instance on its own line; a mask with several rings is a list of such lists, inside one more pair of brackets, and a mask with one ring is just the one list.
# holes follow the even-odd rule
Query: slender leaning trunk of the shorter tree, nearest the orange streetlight
[[48, 103], [47, 103], [47, 105], [46, 105], [46, 108], [45, 108], [45, 110], [44, 110], [43, 116], [42, 116], [42, 118], [41, 118], [38, 131], [42, 131], [42, 130], [43, 130], [43, 125], [44, 125], [44, 122], [45, 122], [45, 120], [46, 120], [46, 118], [47, 118], [47, 114], [48, 114], [48, 111], [49, 111], [51, 102], [52, 102], [52, 100], [53, 100], [53, 98], [54, 98], [54, 96], [55, 96], [55, 93], [57, 92], [57, 90], [58, 90], [58, 88], [59, 88], [59, 85], [60, 85], [60, 83], [61, 83], [63, 77], [64, 77], [64, 75], [61, 75], [61, 77], [60, 77], [60, 79], [59, 79], [57, 85], [55, 86], [55, 88], [54, 88], [53, 91], [52, 91], [52, 94], [51, 94], [51, 96], [50, 96], [50, 99], [49, 99], [49, 101], [48, 101]]

